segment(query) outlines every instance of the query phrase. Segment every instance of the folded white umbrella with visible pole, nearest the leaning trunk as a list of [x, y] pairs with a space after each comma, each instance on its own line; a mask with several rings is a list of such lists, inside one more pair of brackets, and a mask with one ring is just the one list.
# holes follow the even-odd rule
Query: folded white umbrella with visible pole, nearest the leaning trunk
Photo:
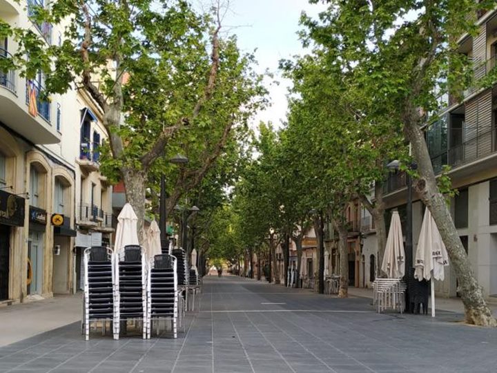
[[431, 280], [431, 316], [435, 317], [435, 282], [445, 278], [444, 267], [449, 265], [447, 249], [442, 241], [435, 220], [429, 209], [425, 209], [425, 216], [421, 225], [418, 247], [416, 249], [416, 265], [414, 278]]

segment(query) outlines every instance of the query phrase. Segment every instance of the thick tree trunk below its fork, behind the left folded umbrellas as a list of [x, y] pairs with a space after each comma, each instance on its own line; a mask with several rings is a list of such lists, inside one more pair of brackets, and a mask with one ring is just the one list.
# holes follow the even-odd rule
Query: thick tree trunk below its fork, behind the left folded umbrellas
[[146, 172], [137, 169], [125, 168], [122, 170], [126, 201], [133, 207], [138, 218], [137, 232], [140, 245], [143, 243], [145, 220], [145, 187]]

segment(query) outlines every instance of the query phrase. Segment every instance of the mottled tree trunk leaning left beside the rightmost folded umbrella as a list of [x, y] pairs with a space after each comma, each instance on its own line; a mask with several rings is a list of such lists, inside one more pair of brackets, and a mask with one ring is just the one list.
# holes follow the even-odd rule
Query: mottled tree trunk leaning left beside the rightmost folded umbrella
[[497, 321], [492, 316], [483, 297], [483, 291], [474, 276], [466, 251], [451, 218], [449, 207], [438, 189], [425, 137], [417, 125], [420, 119], [418, 112], [415, 108], [409, 110], [408, 104], [404, 114], [405, 135], [411, 143], [413, 156], [418, 164], [419, 178], [415, 180], [415, 188], [422, 202], [431, 212], [445, 247], [447, 247], [451, 265], [458, 278], [458, 291], [462, 303], [465, 305], [466, 322], [480, 326], [497, 326]]

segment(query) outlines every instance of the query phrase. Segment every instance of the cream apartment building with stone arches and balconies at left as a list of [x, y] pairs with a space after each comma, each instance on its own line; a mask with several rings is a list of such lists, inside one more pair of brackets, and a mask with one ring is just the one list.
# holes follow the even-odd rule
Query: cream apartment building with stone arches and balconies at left
[[[59, 26], [30, 19], [33, 7], [45, 5], [43, 0], [6, 0], [0, 4], [0, 17], [12, 26], [30, 28], [47, 46], [59, 44]], [[17, 48], [13, 39], [2, 40], [0, 58]], [[81, 220], [76, 201], [81, 175], [88, 174], [77, 160], [86, 117], [81, 109], [88, 105], [76, 90], [43, 100], [43, 82], [41, 73], [27, 80], [17, 70], [0, 72], [0, 304], [69, 294], [76, 287], [74, 247]], [[97, 198], [99, 211], [106, 203], [110, 211], [110, 197], [104, 193]]]

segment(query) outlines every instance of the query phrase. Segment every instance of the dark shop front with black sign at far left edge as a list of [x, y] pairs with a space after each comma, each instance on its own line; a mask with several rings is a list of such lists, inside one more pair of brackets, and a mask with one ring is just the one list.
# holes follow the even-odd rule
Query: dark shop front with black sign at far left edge
[[10, 262], [14, 230], [24, 225], [24, 198], [0, 189], [0, 301], [10, 296]]

